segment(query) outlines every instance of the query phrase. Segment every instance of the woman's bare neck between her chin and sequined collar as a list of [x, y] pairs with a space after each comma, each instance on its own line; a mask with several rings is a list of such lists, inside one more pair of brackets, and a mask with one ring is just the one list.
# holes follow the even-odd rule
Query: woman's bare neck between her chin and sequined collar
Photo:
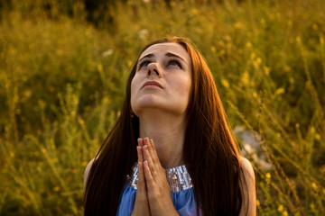
[[182, 165], [185, 117], [155, 113], [154, 116], [141, 116], [139, 119], [140, 137], [153, 139], [162, 166], [168, 168]]

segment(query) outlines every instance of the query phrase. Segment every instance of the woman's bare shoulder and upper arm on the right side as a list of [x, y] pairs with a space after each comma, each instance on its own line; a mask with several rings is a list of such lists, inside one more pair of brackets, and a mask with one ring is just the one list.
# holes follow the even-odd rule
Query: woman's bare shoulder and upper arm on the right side
[[240, 157], [242, 174], [240, 182], [243, 191], [243, 203], [240, 216], [256, 215], [255, 173], [252, 164], [245, 157]]

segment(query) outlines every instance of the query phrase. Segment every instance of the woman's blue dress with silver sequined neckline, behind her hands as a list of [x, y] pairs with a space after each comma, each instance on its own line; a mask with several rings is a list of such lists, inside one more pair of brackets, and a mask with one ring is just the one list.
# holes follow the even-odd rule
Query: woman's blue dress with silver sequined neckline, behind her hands
[[[181, 216], [197, 215], [197, 204], [194, 200], [193, 185], [190, 174], [185, 166], [165, 169], [168, 183], [172, 192], [172, 203]], [[116, 215], [131, 215], [135, 206], [137, 182], [137, 164], [133, 168], [133, 175], [127, 175], [127, 184], [121, 194], [120, 204]], [[201, 212], [200, 212], [201, 215]]]

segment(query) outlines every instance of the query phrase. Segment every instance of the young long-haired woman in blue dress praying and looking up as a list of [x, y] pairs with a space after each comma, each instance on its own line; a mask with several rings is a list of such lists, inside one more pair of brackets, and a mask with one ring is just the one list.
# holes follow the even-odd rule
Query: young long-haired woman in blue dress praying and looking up
[[254, 170], [189, 40], [144, 47], [85, 188], [85, 215], [255, 215]]

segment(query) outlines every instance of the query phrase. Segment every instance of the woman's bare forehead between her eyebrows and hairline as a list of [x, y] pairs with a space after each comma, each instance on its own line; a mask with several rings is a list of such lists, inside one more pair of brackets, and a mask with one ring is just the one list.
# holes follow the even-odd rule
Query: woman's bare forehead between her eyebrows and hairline
[[166, 53], [172, 53], [180, 56], [181, 58], [186, 59], [188, 62], [190, 62], [190, 55], [184, 49], [180, 44], [178, 43], [157, 43], [153, 44], [152, 46], [148, 47], [147, 49], [144, 50], [143, 53], [141, 53], [140, 58], [144, 58], [144, 56], [147, 56], [149, 54], [153, 54], [154, 56], [160, 55], [160, 54], [166, 54]]

